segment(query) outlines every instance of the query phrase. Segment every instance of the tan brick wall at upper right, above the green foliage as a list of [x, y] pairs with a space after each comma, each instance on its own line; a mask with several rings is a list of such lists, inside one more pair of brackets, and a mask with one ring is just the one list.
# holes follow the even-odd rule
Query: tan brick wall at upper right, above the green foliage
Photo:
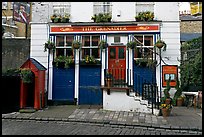
[[181, 21], [181, 33], [202, 33], [202, 21]]

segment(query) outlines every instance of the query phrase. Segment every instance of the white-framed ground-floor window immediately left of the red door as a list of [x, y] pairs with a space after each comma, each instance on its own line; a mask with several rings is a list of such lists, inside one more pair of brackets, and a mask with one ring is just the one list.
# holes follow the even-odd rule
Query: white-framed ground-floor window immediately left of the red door
[[84, 59], [86, 55], [93, 56], [95, 59], [100, 59], [99, 41], [99, 35], [83, 35], [81, 59]]

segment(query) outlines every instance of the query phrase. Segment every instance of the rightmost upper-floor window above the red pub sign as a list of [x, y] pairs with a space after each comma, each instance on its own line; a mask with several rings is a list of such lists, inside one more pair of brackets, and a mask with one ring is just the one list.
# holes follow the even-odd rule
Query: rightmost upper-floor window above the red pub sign
[[136, 2], [136, 15], [139, 12], [151, 11], [154, 13], [154, 2]]

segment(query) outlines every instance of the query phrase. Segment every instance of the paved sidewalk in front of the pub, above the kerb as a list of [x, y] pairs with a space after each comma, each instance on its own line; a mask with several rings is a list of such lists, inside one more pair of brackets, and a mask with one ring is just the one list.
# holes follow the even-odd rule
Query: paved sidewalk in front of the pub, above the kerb
[[2, 114], [2, 119], [86, 122], [202, 132], [202, 110], [193, 107], [173, 107], [171, 115], [164, 118], [163, 116], [138, 112], [109, 111], [94, 107], [61, 105], [48, 106], [34, 113], [13, 112]]

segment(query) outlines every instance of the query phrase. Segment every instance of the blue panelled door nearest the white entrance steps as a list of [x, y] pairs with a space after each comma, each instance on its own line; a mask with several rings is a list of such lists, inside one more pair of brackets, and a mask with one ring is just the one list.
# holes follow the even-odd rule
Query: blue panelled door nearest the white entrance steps
[[100, 65], [81, 65], [79, 69], [79, 105], [102, 105]]

